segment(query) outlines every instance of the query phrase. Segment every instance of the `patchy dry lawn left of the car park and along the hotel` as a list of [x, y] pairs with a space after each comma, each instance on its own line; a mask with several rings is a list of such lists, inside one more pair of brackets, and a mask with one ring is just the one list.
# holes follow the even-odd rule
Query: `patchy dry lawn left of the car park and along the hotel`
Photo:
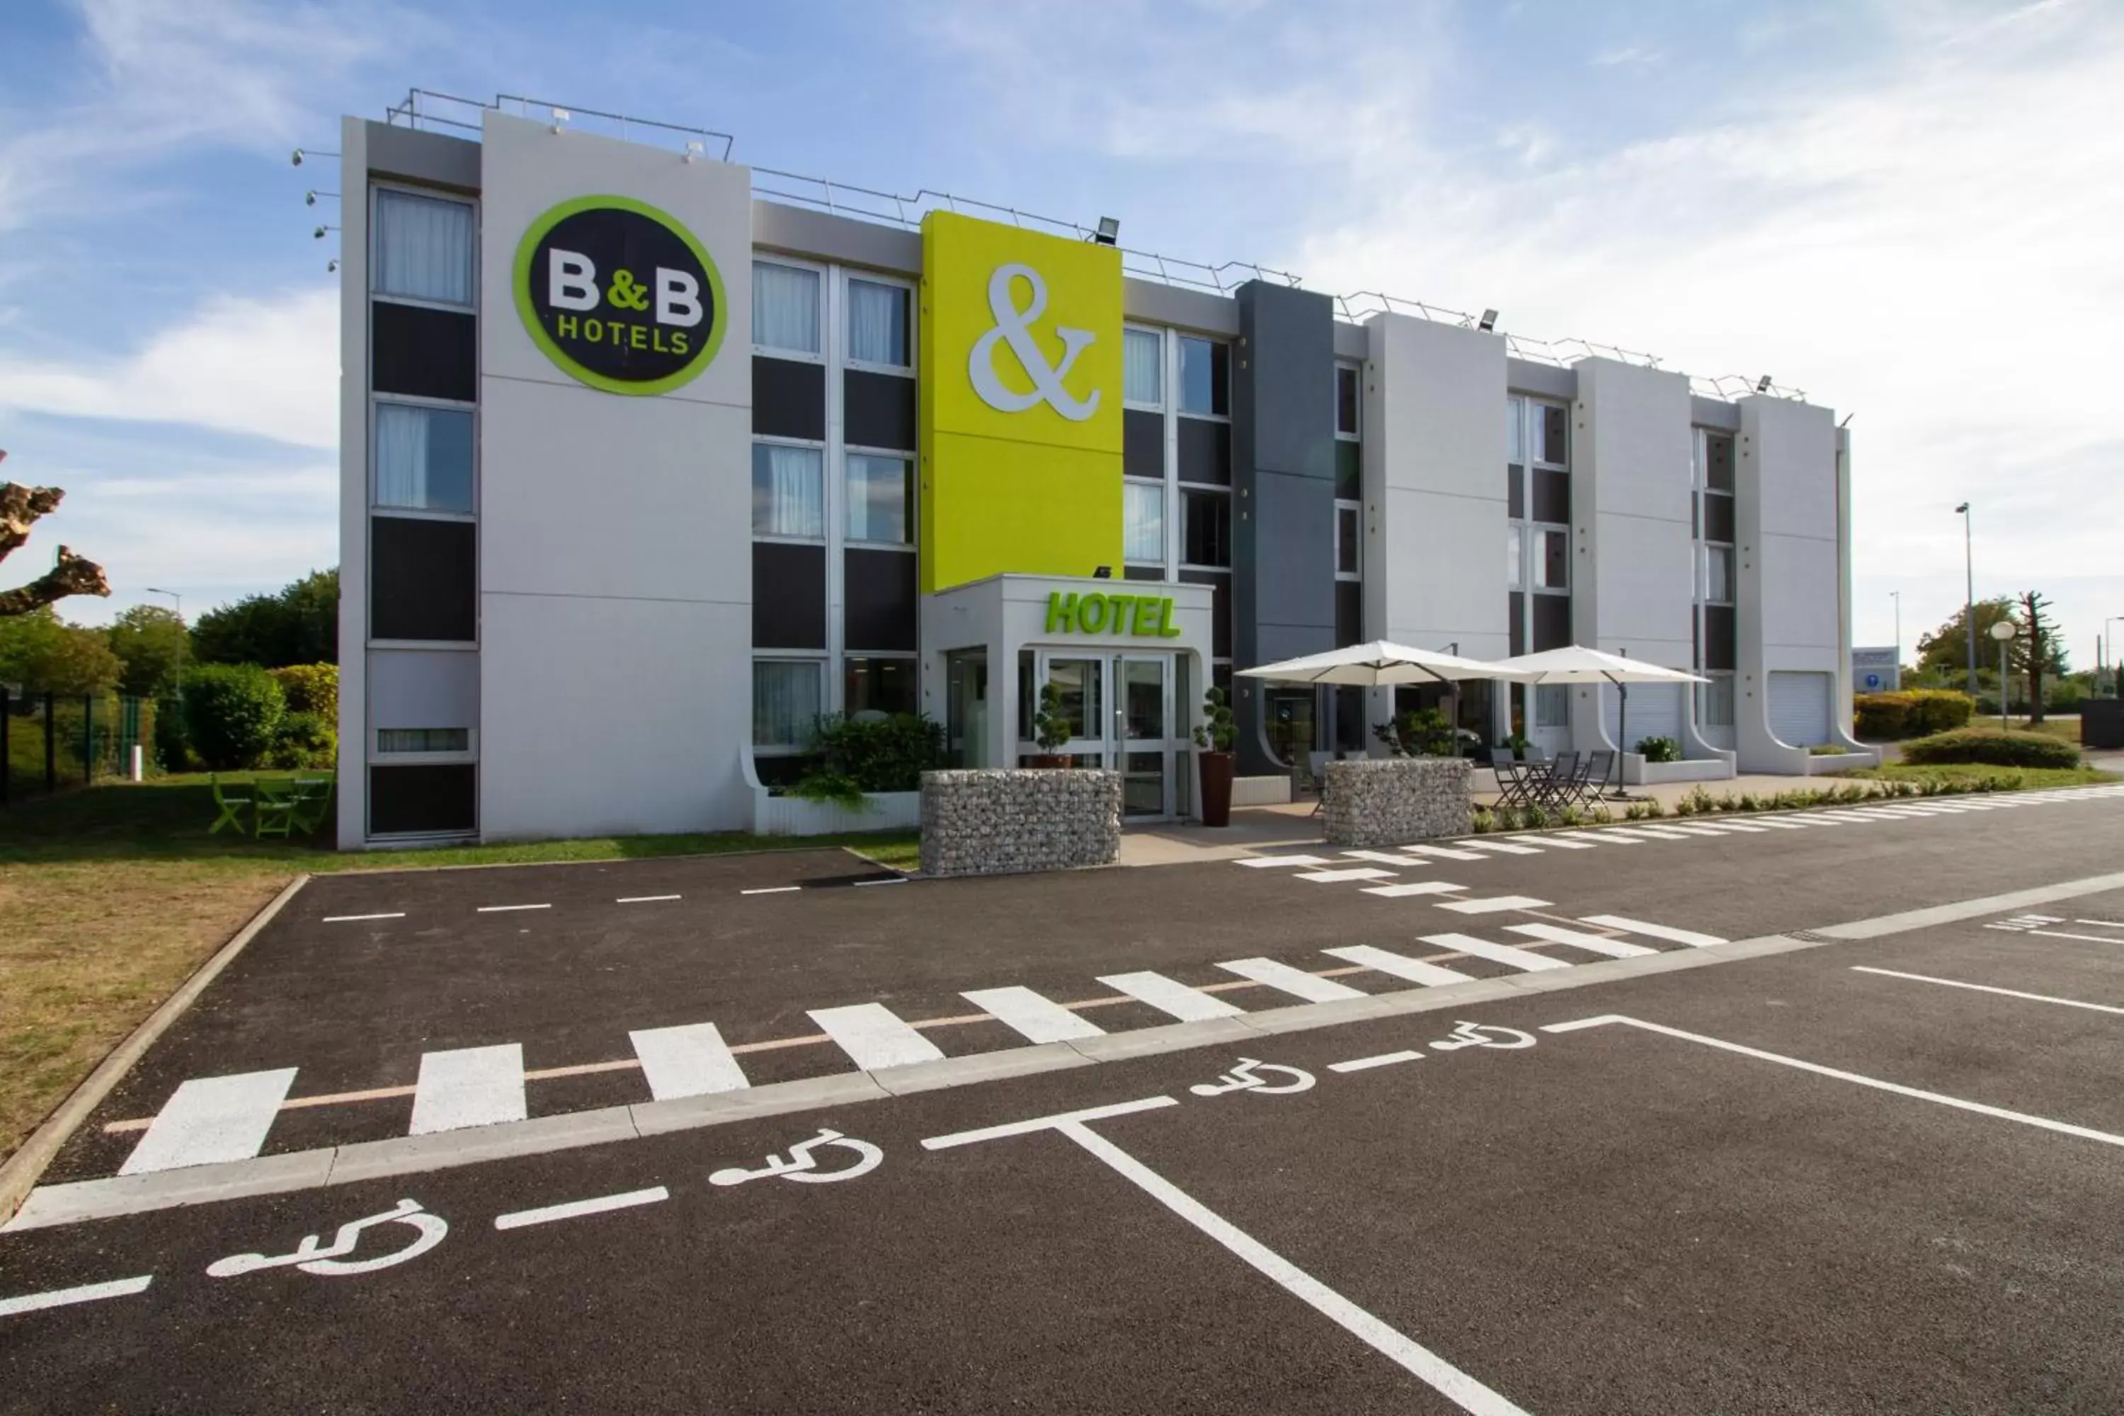
[[[287, 773], [263, 773], [287, 775]], [[246, 773], [227, 775], [232, 781]], [[724, 856], [847, 845], [913, 868], [915, 832], [601, 836], [336, 851], [215, 824], [204, 775], [110, 783], [0, 811], [0, 1159], [299, 873]]]

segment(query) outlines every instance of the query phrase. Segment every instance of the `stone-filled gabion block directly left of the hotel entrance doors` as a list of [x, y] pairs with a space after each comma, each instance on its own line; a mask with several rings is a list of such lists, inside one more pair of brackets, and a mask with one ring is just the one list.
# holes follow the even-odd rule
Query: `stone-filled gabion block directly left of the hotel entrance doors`
[[922, 875], [1075, 870], [1119, 853], [1121, 773], [922, 773]]

